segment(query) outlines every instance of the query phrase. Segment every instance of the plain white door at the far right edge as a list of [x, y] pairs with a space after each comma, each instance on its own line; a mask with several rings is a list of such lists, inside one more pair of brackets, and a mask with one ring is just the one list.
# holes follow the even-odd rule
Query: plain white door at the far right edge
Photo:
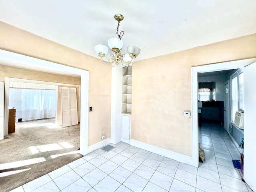
[[244, 67], [244, 180], [256, 190], [256, 63]]

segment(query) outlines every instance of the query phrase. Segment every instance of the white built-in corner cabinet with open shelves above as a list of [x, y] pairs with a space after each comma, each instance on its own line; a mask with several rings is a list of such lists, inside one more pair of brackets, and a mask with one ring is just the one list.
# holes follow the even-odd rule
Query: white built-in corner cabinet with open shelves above
[[121, 140], [130, 143], [132, 118], [132, 66], [123, 68]]

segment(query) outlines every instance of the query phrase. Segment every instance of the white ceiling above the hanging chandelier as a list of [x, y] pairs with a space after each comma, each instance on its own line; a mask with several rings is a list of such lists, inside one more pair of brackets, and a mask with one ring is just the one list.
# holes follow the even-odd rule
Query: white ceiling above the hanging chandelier
[[256, 0], [0, 0], [0, 21], [94, 57], [116, 13], [136, 60], [256, 33]]

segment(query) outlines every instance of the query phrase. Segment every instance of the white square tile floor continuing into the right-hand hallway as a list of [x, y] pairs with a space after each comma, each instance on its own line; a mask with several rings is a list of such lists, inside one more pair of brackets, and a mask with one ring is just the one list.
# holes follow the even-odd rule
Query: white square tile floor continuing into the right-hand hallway
[[120, 142], [12, 192], [251, 192], [233, 168], [240, 154], [224, 128], [203, 122], [199, 136], [206, 157], [199, 168]]

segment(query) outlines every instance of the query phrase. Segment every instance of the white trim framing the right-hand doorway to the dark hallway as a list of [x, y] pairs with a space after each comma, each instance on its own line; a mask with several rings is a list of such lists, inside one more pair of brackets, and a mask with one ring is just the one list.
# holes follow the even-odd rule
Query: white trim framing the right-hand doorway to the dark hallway
[[199, 166], [198, 159], [198, 73], [242, 68], [256, 62], [256, 58], [196, 66], [191, 68], [191, 105], [192, 105], [192, 162]]

